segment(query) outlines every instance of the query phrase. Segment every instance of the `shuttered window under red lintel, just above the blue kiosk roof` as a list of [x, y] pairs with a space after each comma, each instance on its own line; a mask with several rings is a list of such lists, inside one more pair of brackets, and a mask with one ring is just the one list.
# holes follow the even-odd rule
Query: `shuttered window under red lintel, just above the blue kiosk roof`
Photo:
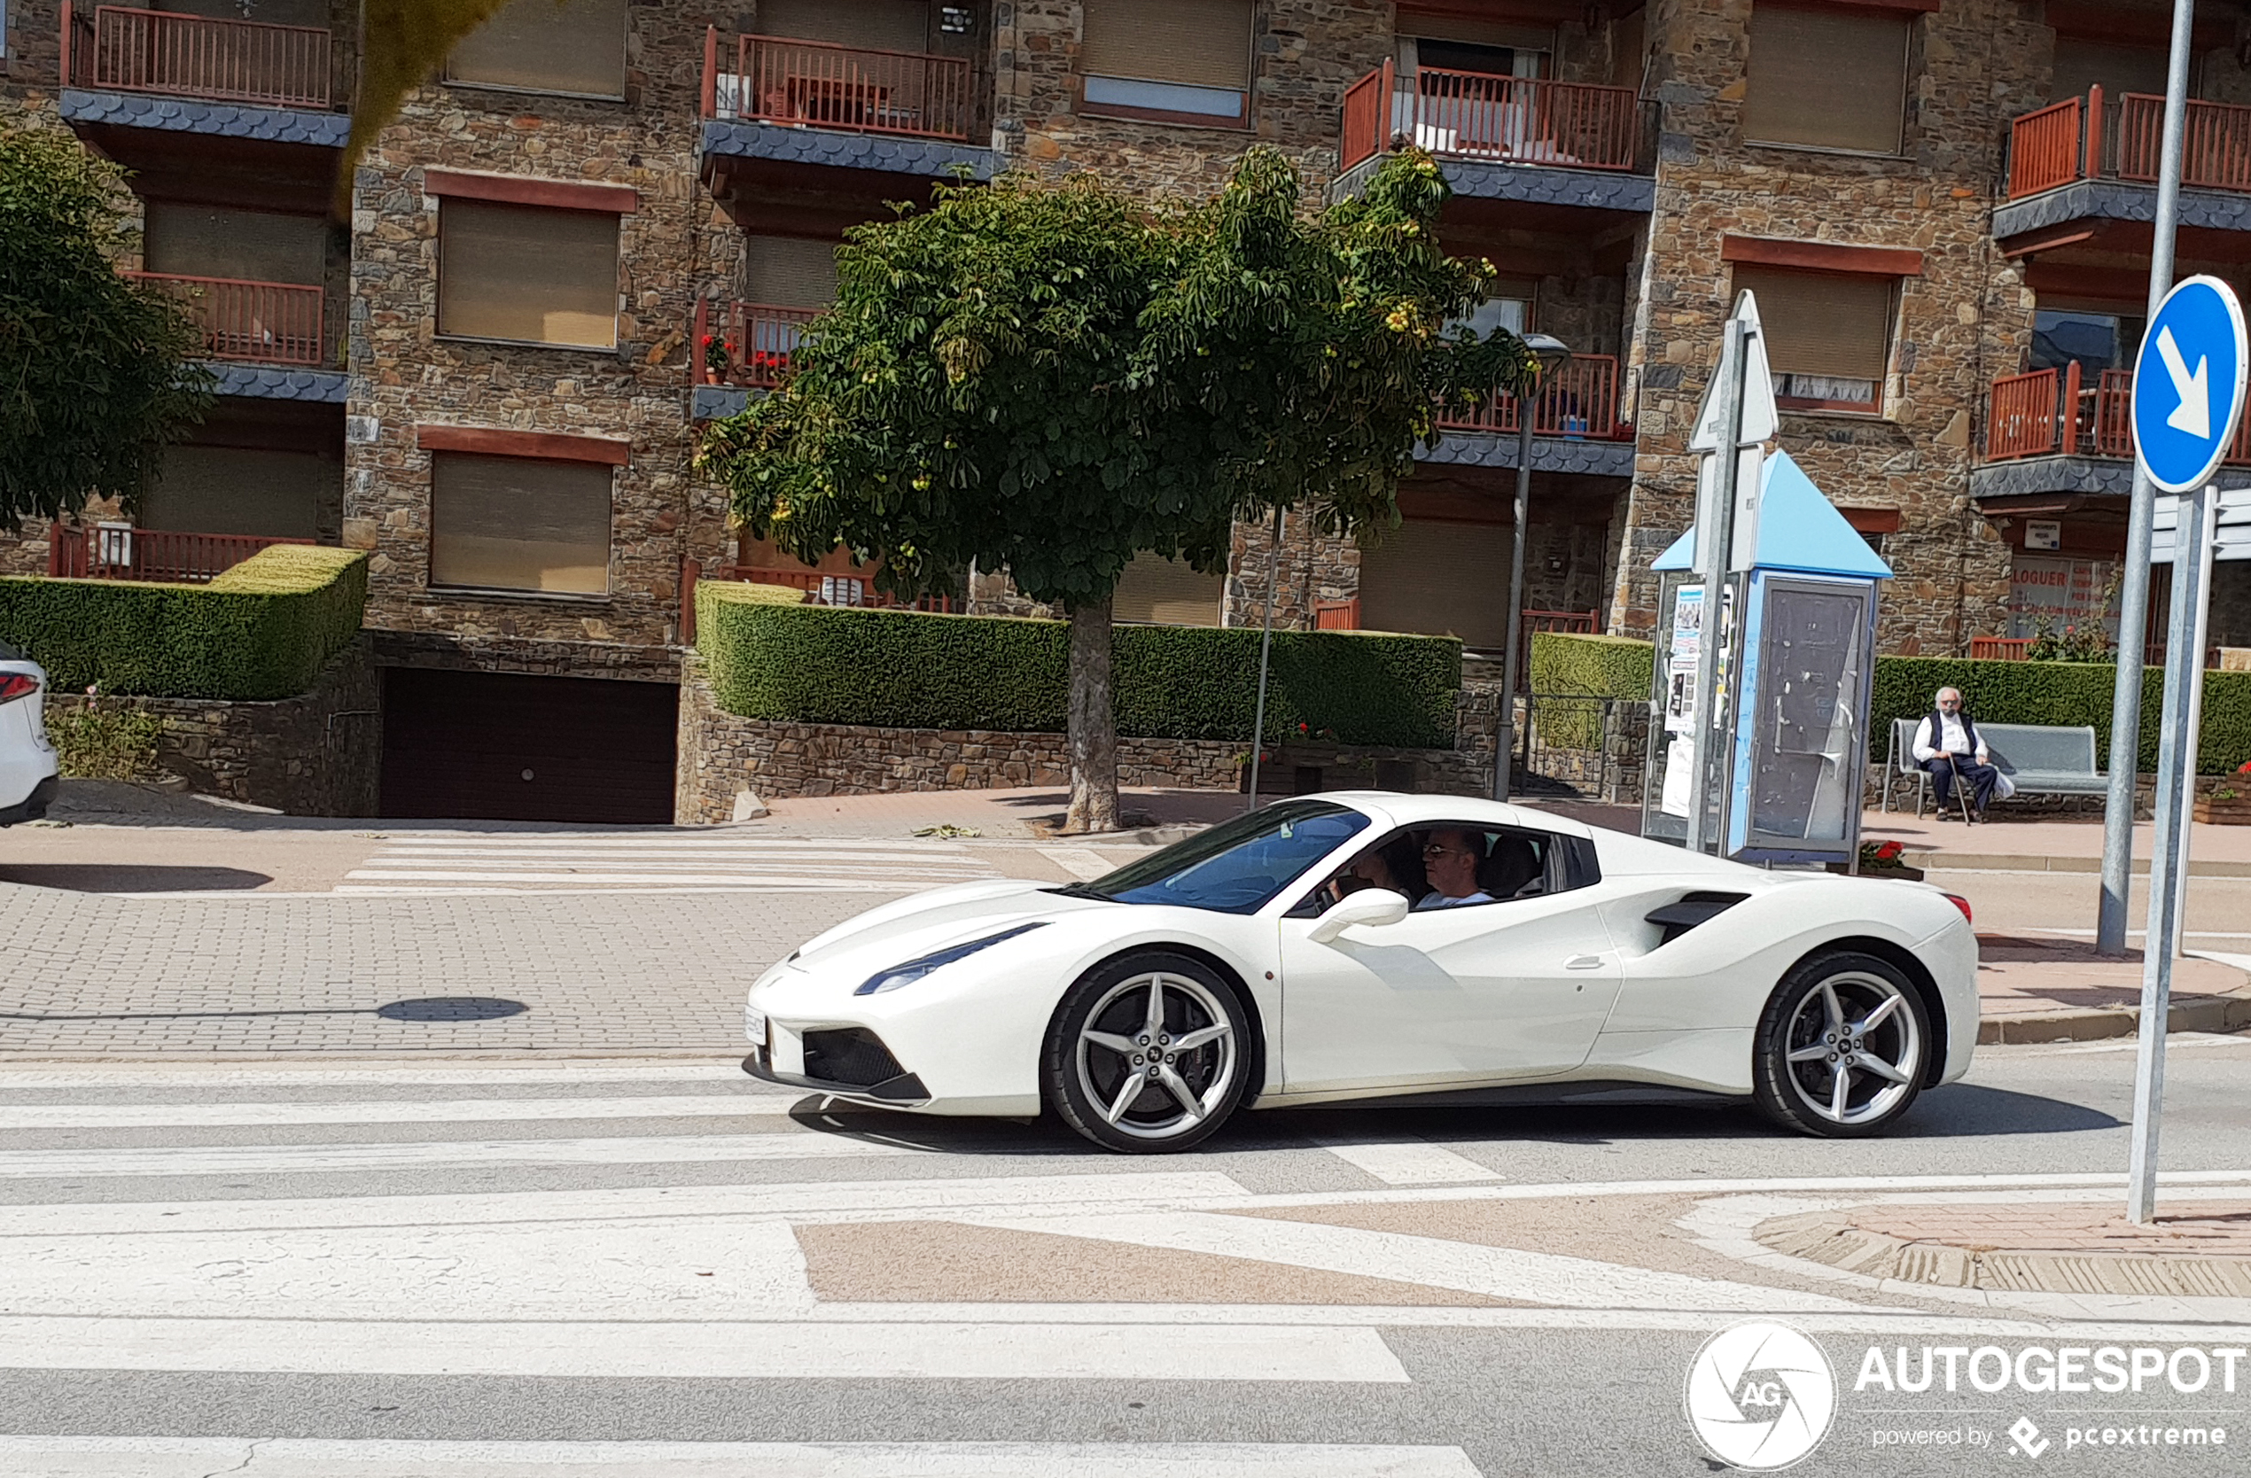
[[1790, 409], [1873, 412], [1891, 367], [1895, 277], [1736, 265], [1758, 299], [1774, 400]]

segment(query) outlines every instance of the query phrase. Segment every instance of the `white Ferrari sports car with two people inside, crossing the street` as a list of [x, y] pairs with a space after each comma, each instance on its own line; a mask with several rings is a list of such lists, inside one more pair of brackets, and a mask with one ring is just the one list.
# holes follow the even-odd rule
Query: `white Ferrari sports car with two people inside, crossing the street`
[[871, 909], [750, 988], [745, 1071], [1184, 1150], [1236, 1109], [1612, 1082], [1891, 1125], [1976, 1046], [1970, 907], [1549, 812], [1339, 792], [1080, 884]]

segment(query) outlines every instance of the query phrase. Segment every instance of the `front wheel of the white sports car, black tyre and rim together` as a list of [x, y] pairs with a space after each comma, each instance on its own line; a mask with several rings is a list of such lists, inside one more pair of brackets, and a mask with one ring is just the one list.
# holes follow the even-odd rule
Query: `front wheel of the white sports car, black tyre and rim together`
[[[1153, 997], [1162, 1030], [1150, 1030]], [[1249, 1012], [1218, 970], [1189, 954], [1139, 949], [1062, 994], [1040, 1051], [1040, 1089], [1062, 1123], [1105, 1150], [1173, 1154], [1234, 1116], [1254, 1060]], [[1137, 1093], [1128, 1075], [1141, 1082]]]

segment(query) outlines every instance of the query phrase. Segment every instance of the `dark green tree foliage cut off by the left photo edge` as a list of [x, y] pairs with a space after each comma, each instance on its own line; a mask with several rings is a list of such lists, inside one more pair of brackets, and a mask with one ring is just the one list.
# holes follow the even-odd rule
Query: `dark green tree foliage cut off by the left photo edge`
[[124, 173], [77, 139], [0, 126], [0, 526], [140, 499], [203, 418], [187, 308], [117, 274]]

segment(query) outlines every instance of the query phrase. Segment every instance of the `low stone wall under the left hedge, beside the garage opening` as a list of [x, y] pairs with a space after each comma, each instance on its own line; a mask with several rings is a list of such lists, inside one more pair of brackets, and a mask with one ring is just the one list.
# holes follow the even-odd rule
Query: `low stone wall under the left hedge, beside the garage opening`
[[[104, 697], [164, 720], [158, 767], [189, 790], [293, 817], [374, 817], [383, 774], [383, 700], [367, 641], [338, 657], [311, 693], [279, 702]], [[50, 693], [50, 713], [86, 704]]]

